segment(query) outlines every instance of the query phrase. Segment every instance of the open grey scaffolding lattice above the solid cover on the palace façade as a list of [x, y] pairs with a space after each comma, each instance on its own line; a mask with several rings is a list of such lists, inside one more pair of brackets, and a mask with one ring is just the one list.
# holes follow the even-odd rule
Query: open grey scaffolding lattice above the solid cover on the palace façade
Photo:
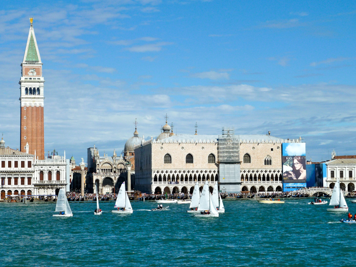
[[220, 163], [240, 162], [240, 140], [235, 136], [233, 127], [223, 127], [219, 135], [218, 161]]

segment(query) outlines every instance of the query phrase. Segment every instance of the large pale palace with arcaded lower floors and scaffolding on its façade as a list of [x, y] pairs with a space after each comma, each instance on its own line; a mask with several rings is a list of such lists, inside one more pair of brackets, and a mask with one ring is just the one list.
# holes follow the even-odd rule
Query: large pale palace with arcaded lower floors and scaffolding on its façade
[[[163, 133], [168, 127], [166, 120]], [[301, 142], [270, 133], [235, 135], [232, 128], [223, 128], [220, 136], [163, 133], [135, 146], [136, 190], [187, 193], [196, 182], [209, 181], [212, 190], [218, 181], [223, 192], [282, 191], [282, 143]], [[226, 148], [231, 143], [234, 147]]]

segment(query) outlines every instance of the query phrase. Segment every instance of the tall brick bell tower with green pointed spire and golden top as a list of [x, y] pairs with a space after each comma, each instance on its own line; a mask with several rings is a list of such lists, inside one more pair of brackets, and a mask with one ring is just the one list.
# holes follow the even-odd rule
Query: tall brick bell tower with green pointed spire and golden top
[[21, 152], [26, 152], [26, 143], [29, 145], [29, 154], [38, 155], [39, 160], [44, 159], [44, 78], [42, 76], [42, 62], [38, 50], [33, 18], [29, 19], [29, 33], [23, 61], [21, 63], [22, 75], [20, 79], [21, 104]]

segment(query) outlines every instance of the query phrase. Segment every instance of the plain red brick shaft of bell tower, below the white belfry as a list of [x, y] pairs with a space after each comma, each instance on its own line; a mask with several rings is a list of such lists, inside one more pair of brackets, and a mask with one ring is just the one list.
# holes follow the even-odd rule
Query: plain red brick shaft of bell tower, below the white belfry
[[[26, 119], [24, 118], [26, 116]], [[26, 129], [24, 127], [26, 126]], [[26, 136], [26, 139], [24, 137]], [[21, 107], [21, 152], [26, 152], [25, 145], [29, 145], [29, 154], [35, 154], [39, 160], [44, 160], [44, 124], [43, 107]]]

